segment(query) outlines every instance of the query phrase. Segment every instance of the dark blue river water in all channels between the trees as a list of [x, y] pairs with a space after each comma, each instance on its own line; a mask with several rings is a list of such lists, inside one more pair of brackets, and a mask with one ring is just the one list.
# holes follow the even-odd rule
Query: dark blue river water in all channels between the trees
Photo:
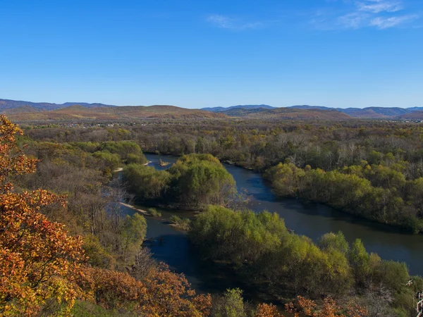
[[[175, 163], [178, 159], [154, 154], [145, 156], [152, 161], [149, 166], [157, 169], [164, 169], [159, 166], [160, 158], [169, 163]], [[423, 275], [423, 235], [410, 235], [387, 225], [341, 213], [323, 204], [278, 198], [261, 174], [228, 164], [224, 166], [233, 175], [238, 190], [245, 189], [250, 195], [250, 209], [253, 211], [266, 209], [276, 212], [285, 219], [288, 228], [314, 241], [326, 232], [342, 231], [348, 242], [360, 238], [367, 251], [379, 254], [382, 259], [403, 261], [407, 263], [412, 275]], [[161, 218], [147, 217], [147, 238], [161, 241], [151, 247], [155, 259], [167, 263], [178, 273], [184, 273], [192, 287], [199, 292], [221, 292], [228, 287], [245, 288], [245, 285], [235, 282], [230, 274], [225, 274], [224, 270], [201, 261], [190, 247], [186, 234], [167, 223], [166, 219], [171, 214], [190, 217], [192, 213], [161, 211]], [[125, 212], [134, 211], [125, 209]]]

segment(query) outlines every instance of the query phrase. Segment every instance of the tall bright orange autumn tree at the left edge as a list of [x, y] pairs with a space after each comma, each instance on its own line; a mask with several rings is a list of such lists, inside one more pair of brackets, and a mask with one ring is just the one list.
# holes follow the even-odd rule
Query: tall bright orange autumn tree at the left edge
[[63, 197], [44, 190], [16, 193], [11, 180], [33, 173], [15, 136], [22, 130], [0, 116], [0, 315], [34, 316], [55, 302], [65, 313], [78, 287], [73, 282], [83, 260], [82, 240], [39, 212]]

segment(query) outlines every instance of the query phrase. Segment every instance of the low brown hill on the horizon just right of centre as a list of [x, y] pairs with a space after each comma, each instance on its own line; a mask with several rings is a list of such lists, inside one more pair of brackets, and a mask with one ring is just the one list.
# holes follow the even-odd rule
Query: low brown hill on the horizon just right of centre
[[221, 112], [230, 117], [236, 118], [257, 118], [257, 119], [287, 119], [287, 120], [345, 120], [351, 117], [339, 111], [328, 111], [321, 109], [298, 109], [298, 108], [231, 108]]

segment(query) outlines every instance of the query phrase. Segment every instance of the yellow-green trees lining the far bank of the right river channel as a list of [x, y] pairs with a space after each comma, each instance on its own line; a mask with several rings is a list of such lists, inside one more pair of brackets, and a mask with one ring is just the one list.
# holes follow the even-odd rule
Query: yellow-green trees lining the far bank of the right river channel
[[[297, 168], [279, 163], [269, 168], [265, 177], [276, 194], [321, 201], [337, 209], [381, 223], [399, 225], [420, 232], [419, 179], [408, 181], [402, 173], [388, 166], [349, 166], [324, 172], [319, 168]], [[406, 199], [414, 201], [407, 203]], [[413, 209], [414, 204], [414, 209]]]

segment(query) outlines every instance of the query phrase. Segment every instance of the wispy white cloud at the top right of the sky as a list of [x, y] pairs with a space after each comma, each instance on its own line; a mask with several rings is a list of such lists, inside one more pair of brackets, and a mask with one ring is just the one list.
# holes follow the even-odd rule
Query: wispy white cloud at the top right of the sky
[[[333, 2], [333, 1], [332, 1]], [[407, 12], [403, 1], [360, 0], [336, 1], [342, 8], [338, 13], [316, 18], [310, 23], [321, 30], [353, 29], [376, 27], [379, 30], [406, 25], [419, 19], [419, 15]]]

